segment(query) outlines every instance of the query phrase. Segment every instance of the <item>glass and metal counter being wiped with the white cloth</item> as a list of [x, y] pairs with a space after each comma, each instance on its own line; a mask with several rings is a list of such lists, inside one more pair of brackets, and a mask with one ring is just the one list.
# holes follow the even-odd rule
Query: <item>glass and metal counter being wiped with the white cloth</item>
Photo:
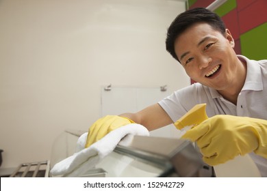
[[[55, 141], [51, 167], [75, 152], [84, 131], [66, 130]], [[117, 145], [96, 168], [82, 177], [200, 177], [203, 162], [192, 143], [176, 138], [133, 136], [129, 145]]]

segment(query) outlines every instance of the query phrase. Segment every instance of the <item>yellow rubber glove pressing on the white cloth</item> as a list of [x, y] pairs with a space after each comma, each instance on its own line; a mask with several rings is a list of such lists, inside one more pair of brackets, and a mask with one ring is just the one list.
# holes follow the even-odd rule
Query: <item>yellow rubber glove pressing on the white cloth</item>
[[120, 128], [121, 126], [126, 126], [130, 123], [134, 122], [127, 117], [120, 117], [118, 115], [107, 115], [98, 119], [88, 130], [89, 132], [86, 140], [86, 148], [99, 141], [101, 138], [103, 138], [103, 136], [112, 130]]

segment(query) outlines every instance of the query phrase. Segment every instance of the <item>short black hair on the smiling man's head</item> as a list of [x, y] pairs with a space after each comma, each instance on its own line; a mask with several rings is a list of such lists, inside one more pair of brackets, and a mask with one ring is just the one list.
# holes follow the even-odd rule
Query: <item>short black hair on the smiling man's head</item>
[[175, 54], [175, 40], [183, 31], [186, 31], [188, 27], [195, 23], [207, 23], [215, 30], [225, 34], [225, 23], [223, 23], [223, 20], [218, 14], [206, 8], [194, 8], [179, 14], [175, 20], [173, 20], [173, 23], [170, 24], [170, 27], [168, 27], [166, 37], [166, 50], [177, 59], [177, 61], [179, 61], [179, 59]]

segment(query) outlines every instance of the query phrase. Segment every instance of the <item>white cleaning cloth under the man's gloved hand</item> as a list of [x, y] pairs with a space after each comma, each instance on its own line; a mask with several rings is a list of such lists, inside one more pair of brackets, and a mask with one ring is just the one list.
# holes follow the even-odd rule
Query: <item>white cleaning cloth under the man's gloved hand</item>
[[[73, 156], [55, 164], [50, 171], [51, 175], [62, 175], [64, 177], [84, 175], [86, 171], [94, 168], [105, 156], [111, 153], [118, 143], [127, 145], [134, 135], [149, 136], [149, 131], [144, 126], [131, 123], [113, 130], [90, 147], [84, 148], [87, 135], [88, 133], [86, 132], [79, 137], [76, 152]], [[123, 141], [120, 142], [122, 139]]]

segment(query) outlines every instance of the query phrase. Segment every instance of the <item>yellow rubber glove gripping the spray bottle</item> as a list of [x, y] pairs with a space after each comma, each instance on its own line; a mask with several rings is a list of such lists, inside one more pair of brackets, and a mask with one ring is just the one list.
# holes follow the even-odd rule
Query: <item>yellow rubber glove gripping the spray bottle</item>
[[203, 161], [214, 166], [254, 151], [267, 158], [267, 121], [233, 115], [215, 115], [182, 136], [195, 141]]

